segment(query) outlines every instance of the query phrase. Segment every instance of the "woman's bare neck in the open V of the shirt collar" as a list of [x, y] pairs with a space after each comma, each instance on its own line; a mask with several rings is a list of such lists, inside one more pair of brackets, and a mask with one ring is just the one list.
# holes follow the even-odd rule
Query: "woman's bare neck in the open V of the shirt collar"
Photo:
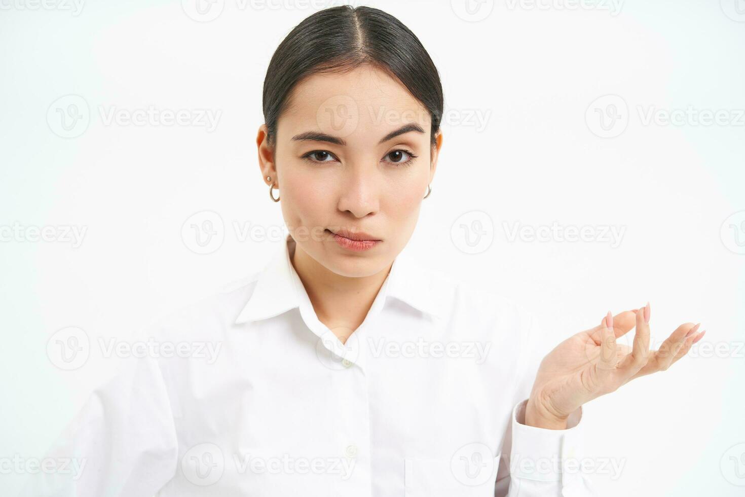
[[391, 265], [370, 276], [341, 276], [317, 262], [294, 240], [290, 260], [321, 323], [344, 343], [367, 316]]

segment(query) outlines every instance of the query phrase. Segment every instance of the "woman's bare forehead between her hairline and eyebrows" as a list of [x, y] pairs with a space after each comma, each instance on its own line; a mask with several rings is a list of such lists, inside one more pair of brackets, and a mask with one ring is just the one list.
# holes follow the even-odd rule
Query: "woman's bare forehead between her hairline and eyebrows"
[[[405, 124], [419, 124], [429, 140], [431, 116], [395, 77], [373, 66], [341, 73], [311, 75], [298, 83], [288, 109], [279, 118], [278, 134], [320, 131], [345, 142], [378, 142]], [[281, 128], [281, 132], [279, 132]]]

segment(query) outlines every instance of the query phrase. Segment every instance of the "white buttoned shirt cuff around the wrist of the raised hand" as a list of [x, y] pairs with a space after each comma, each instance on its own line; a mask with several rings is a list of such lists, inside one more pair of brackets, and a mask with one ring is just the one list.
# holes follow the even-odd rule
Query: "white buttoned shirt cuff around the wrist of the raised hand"
[[582, 407], [569, 415], [565, 430], [550, 430], [524, 424], [526, 405], [527, 399], [513, 409], [510, 473], [516, 478], [562, 484], [581, 479]]

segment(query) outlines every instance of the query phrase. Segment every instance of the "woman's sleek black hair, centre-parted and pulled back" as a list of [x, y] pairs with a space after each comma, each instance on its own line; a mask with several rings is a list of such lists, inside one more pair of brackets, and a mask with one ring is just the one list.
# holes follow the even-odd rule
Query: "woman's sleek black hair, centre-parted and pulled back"
[[282, 40], [264, 77], [262, 107], [267, 143], [276, 141], [279, 116], [294, 87], [319, 72], [346, 72], [363, 64], [397, 78], [431, 115], [431, 145], [440, 130], [443, 86], [419, 39], [399, 19], [373, 7], [342, 5], [306, 17]]

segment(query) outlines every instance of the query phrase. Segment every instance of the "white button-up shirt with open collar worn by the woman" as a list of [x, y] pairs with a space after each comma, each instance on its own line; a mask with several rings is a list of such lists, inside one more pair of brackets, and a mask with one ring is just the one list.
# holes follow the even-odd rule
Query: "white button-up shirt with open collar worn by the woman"
[[50, 452], [77, 471], [39, 472], [23, 495], [592, 495], [569, 464], [582, 410], [566, 430], [522, 424], [540, 360], [524, 308], [404, 250], [341, 344], [294, 250], [288, 236], [256, 275], [155, 326], [171, 353], [95, 390]]

